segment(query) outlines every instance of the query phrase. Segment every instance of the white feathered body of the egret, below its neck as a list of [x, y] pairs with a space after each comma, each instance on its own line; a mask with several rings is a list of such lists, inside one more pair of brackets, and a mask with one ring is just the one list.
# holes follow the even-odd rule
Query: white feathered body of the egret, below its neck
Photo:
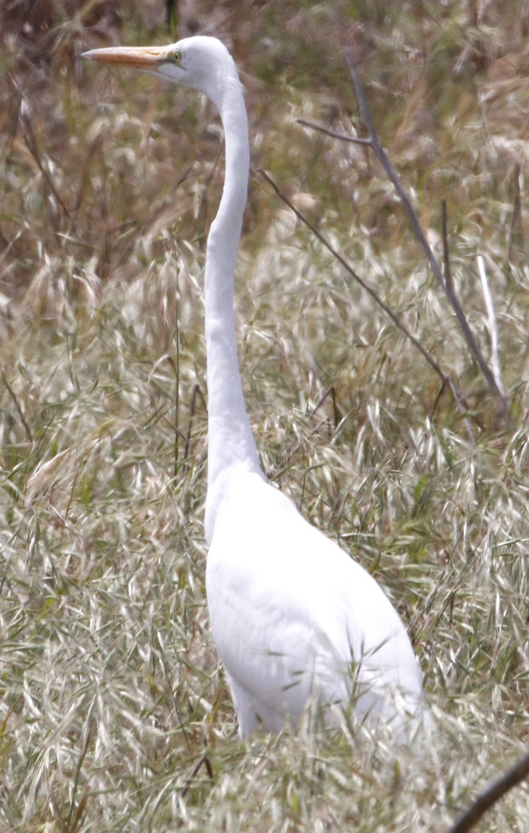
[[406, 631], [363, 567], [259, 475], [230, 480], [206, 567], [241, 735], [295, 724], [312, 694], [400, 730], [422, 690]]

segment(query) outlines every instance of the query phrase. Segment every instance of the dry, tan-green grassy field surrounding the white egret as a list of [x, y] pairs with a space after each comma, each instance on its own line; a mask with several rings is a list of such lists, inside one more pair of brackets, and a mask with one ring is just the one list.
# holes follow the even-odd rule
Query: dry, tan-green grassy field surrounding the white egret
[[[0, 12], [0, 829], [447, 831], [529, 734], [527, 0], [200, 2], [177, 34], [162, 0], [29, 7]], [[264, 469], [398, 607], [433, 714], [409, 749], [309, 721], [237, 740], [202, 528], [220, 126], [193, 93], [79, 57], [196, 27], [247, 91], [236, 303]], [[508, 416], [382, 167], [298, 122], [365, 135], [345, 47], [438, 257], [447, 202]], [[478, 829], [529, 830], [527, 787]]]

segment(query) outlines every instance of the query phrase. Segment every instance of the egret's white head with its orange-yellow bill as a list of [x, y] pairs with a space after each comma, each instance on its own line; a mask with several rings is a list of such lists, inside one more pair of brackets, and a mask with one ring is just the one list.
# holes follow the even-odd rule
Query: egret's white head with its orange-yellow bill
[[165, 47], [108, 47], [83, 52], [96, 63], [151, 72], [183, 87], [204, 92], [220, 107], [228, 82], [237, 78], [230, 52], [216, 37], [185, 37]]

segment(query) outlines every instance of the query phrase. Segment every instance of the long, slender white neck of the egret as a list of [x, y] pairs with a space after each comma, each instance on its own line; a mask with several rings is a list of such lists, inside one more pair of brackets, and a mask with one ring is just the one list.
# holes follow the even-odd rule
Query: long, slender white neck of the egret
[[250, 147], [245, 102], [235, 65], [223, 85], [219, 107], [225, 132], [225, 183], [211, 224], [205, 257], [205, 344], [208, 384], [208, 493], [205, 534], [215, 519], [235, 471], [262, 475], [246, 414], [235, 339], [234, 283], [248, 192]]

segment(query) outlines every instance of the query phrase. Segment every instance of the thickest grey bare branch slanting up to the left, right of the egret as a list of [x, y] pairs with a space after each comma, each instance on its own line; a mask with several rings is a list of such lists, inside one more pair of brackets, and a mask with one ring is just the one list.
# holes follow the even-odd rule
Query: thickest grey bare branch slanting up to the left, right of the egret
[[383, 147], [378, 139], [378, 134], [373, 124], [373, 119], [371, 117], [371, 112], [369, 111], [365, 92], [363, 91], [363, 85], [360, 80], [360, 76], [358, 75], [357, 69], [354, 65], [353, 57], [351, 56], [349, 49], [345, 52], [345, 59], [348, 62], [349, 71], [351, 72], [351, 76], [353, 77], [354, 89], [358, 98], [358, 106], [360, 107], [360, 115], [363, 119], [365, 126], [368, 128], [369, 139], [371, 141], [371, 147], [373, 148], [373, 152], [375, 153], [375, 156], [378, 158], [378, 161], [382, 165], [384, 171], [388, 174], [388, 178], [393, 183], [393, 187], [398, 193], [398, 198], [402, 202], [405, 212], [408, 214], [408, 219], [412, 224], [413, 232], [415, 233], [416, 237], [418, 238], [418, 241], [423, 247], [423, 251], [426, 254], [428, 263], [430, 264], [430, 268], [432, 269], [433, 274], [437, 278], [439, 285], [444, 290], [447, 299], [450, 302], [452, 309], [456, 314], [457, 321], [459, 322], [459, 326], [461, 327], [463, 337], [467, 342], [468, 349], [470, 350], [472, 356], [476, 360], [477, 365], [480, 367], [488, 387], [490, 387], [494, 396], [497, 397], [497, 401], [502, 412], [507, 413], [507, 397], [497, 387], [496, 379], [494, 378], [491, 368], [488, 367], [487, 362], [485, 361], [485, 358], [483, 357], [483, 354], [477, 345], [477, 341], [474, 338], [472, 330], [467, 322], [465, 313], [462, 311], [462, 307], [457, 299], [457, 295], [454, 292], [453, 287], [444, 280], [438, 260], [433, 254], [432, 248], [430, 247], [428, 240], [426, 239], [426, 236], [421, 227], [421, 224], [418, 221], [417, 212], [415, 212], [412, 203], [408, 198], [407, 193], [404, 191], [402, 185], [400, 184], [398, 174], [395, 171], [395, 168], [393, 167], [392, 163], [389, 161], [388, 156], [384, 152]]

